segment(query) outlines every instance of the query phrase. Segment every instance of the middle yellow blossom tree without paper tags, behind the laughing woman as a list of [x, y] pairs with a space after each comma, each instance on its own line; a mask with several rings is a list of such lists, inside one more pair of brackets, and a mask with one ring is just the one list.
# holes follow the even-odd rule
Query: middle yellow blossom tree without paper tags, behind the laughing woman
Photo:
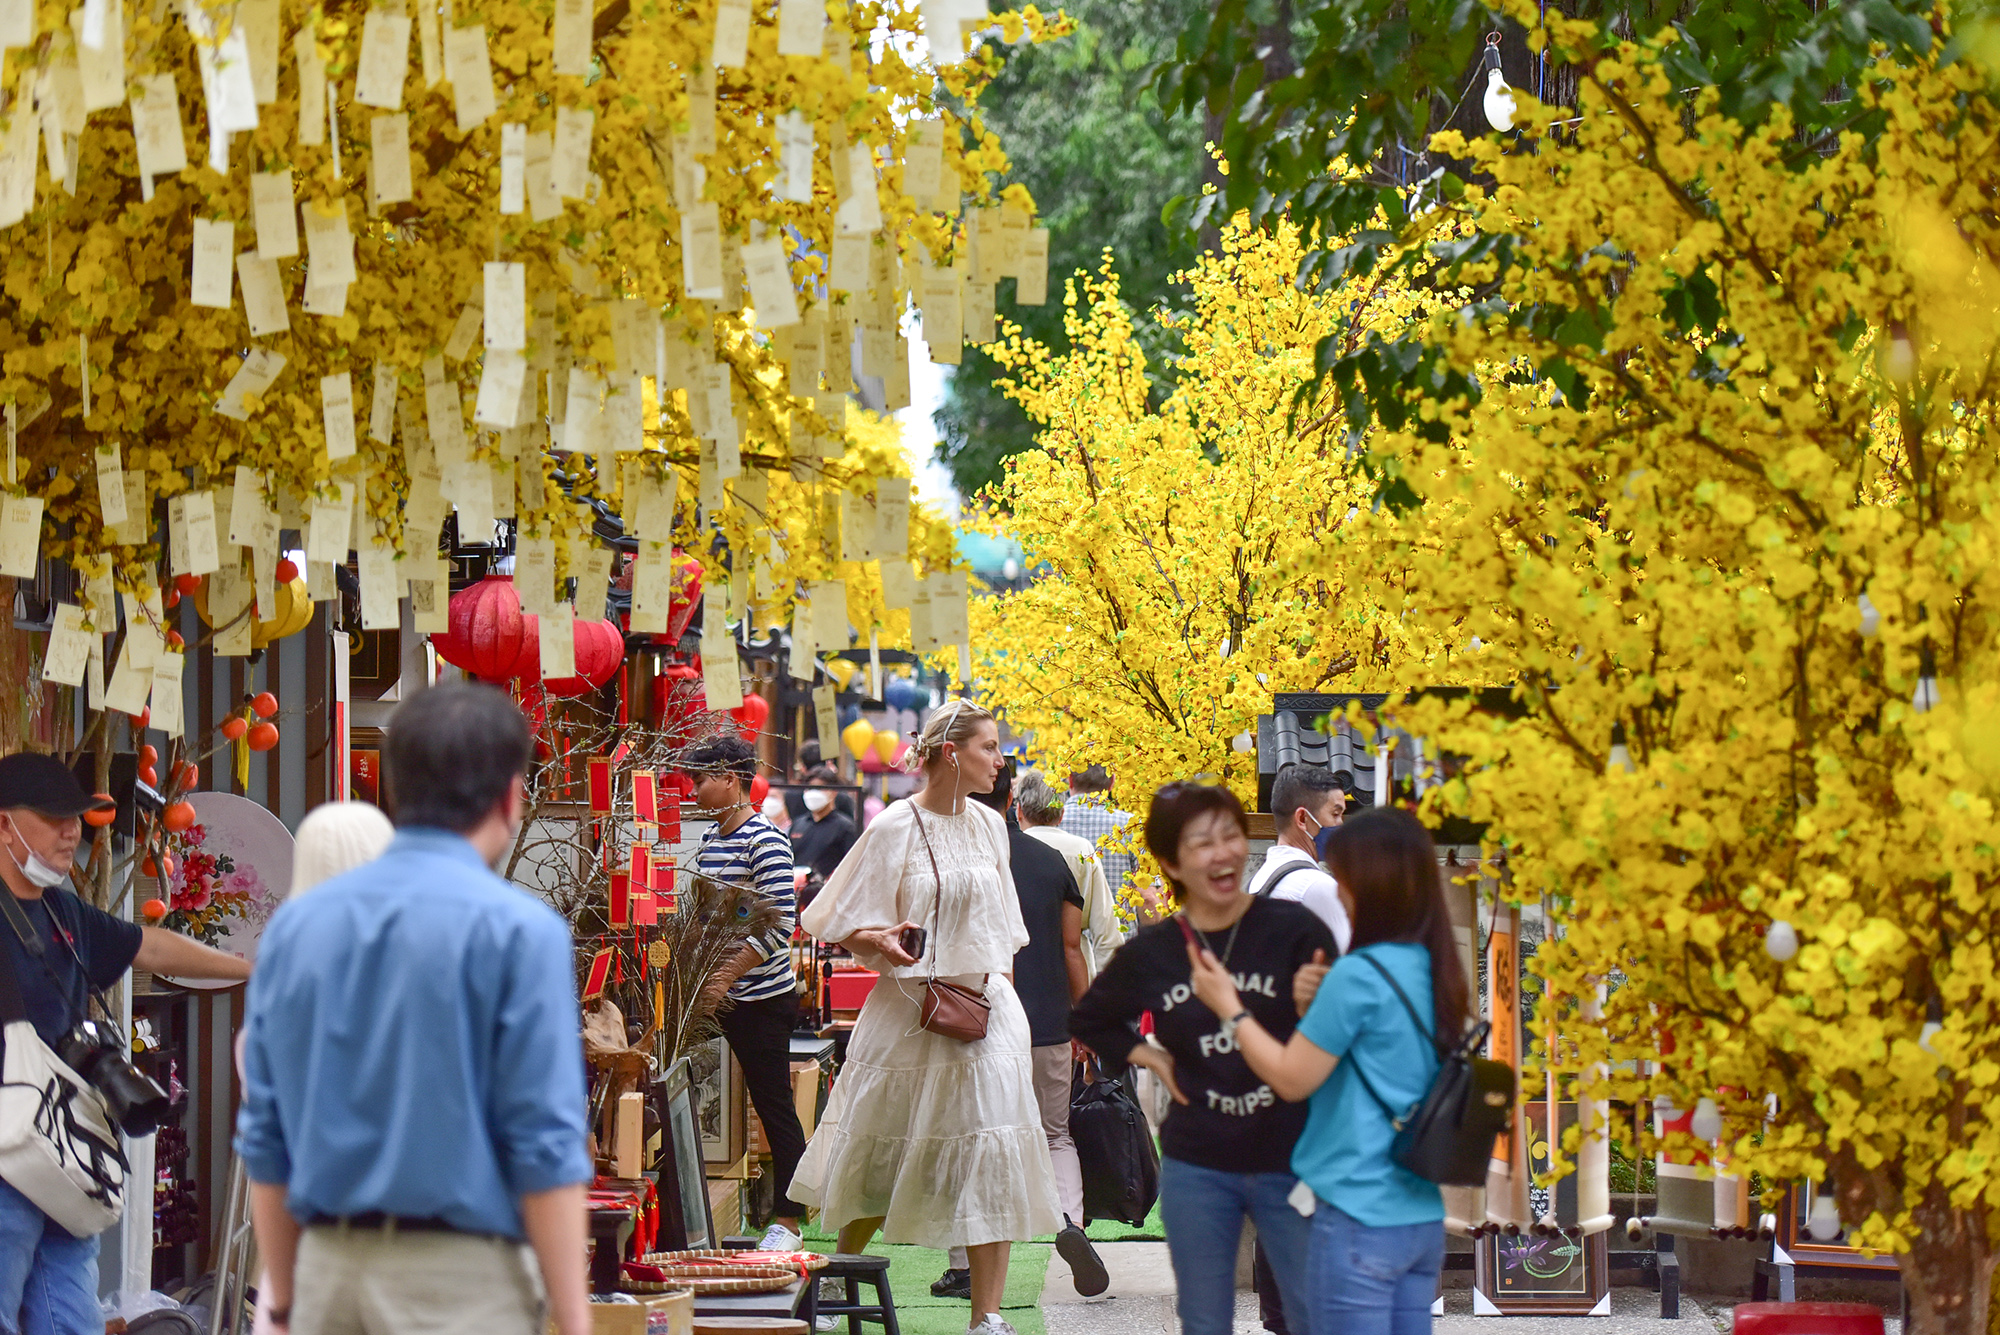
[[1126, 801], [1196, 773], [1254, 801], [1256, 759], [1232, 743], [1272, 691], [1458, 671], [1448, 640], [1400, 620], [1410, 562], [1376, 558], [1338, 396], [1296, 400], [1342, 314], [1356, 336], [1398, 334], [1434, 302], [1362, 278], [1302, 292], [1298, 260], [1290, 226], [1222, 234], [1184, 276], [1186, 358], [1158, 410], [1110, 262], [1070, 284], [1072, 352], [992, 346], [1040, 432], [984, 524], [1040, 574], [980, 600], [980, 689], [1048, 763], [1102, 763]]

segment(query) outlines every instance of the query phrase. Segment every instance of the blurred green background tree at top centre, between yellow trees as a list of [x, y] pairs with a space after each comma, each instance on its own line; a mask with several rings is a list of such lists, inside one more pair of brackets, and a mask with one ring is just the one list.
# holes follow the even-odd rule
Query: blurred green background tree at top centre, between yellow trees
[[[1118, 256], [1126, 302], [1138, 312], [1172, 304], [1172, 274], [1194, 260], [1192, 238], [1162, 220], [1162, 208], [1202, 180], [1202, 122], [1170, 118], [1144, 88], [1146, 68], [1172, 50], [1202, 0], [1082, 0], [1064, 12], [1078, 30], [1064, 42], [1022, 44], [980, 96], [980, 118], [1008, 146], [1012, 174], [1034, 192], [1048, 228], [1044, 306], [1014, 306], [1002, 282], [1000, 312], [1028, 338], [1066, 350], [1062, 282], [1094, 272], [1102, 252]], [[1174, 348], [1150, 318], [1134, 322], [1154, 366]], [[966, 348], [936, 414], [940, 456], [960, 494], [1000, 478], [1002, 460], [1034, 446], [1034, 426], [994, 384], [998, 364]]]

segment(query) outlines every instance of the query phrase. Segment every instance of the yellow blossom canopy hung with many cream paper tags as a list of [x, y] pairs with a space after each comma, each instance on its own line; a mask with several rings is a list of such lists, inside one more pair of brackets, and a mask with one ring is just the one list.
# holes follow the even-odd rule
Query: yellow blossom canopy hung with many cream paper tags
[[[950, 6], [932, 32], [906, 0], [26, 14], [0, 32], [22, 46], [0, 62], [6, 482], [86, 576], [154, 588], [156, 502], [222, 500], [238, 470], [302, 536], [352, 486], [342, 546], [410, 562], [398, 590], [452, 508], [464, 538], [518, 512], [580, 544], [564, 502], [622, 506], [614, 460], [680, 464], [710, 502], [742, 468], [906, 474], [840, 418], [850, 338], [894, 386], [906, 296], [1006, 168], [974, 120], [996, 60], [958, 60]], [[102, 462], [136, 484], [128, 524]], [[700, 540], [692, 504], [674, 536]], [[786, 550], [774, 578], [826, 574]]]

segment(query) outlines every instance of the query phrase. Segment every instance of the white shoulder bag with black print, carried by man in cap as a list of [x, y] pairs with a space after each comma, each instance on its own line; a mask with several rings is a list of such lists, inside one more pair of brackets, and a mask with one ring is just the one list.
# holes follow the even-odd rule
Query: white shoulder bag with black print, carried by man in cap
[[[14, 893], [0, 885], [0, 895]], [[20, 927], [20, 907], [6, 905]], [[40, 935], [26, 937], [42, 945]], [[32, 949], [32, 947], [30, 947]], [[28, 1021], [14, 961], [0, 949], [0, 1177], [76, 1237], [124, 1213], [126, 1159], [104, 1095], [50, 1051]]]

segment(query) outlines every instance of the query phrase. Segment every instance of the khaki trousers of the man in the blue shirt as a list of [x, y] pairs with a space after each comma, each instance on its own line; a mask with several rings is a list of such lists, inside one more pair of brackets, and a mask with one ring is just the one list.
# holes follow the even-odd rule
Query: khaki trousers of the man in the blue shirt
[[298, 1241], [292, 1335], [544, 1335], [522, 1243], [316, 1225]]

